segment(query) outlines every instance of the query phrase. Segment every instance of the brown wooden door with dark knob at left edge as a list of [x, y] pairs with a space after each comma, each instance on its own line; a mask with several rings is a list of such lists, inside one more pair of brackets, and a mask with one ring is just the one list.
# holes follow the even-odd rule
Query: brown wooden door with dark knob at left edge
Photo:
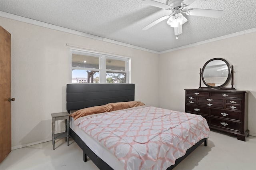
[[0, 26], [0, 162], [12, 150], [11, 34]]

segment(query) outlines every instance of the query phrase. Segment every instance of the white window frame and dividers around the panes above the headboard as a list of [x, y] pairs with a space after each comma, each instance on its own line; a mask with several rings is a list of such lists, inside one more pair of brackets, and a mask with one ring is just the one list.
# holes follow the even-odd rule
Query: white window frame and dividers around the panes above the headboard
[[[99, 57], [99, 69], [72, 67], [72, 54], [90, 55], [93, 57]], [[120, 71], [120, 70], [106, 69], [106, 59], [116, 59], [116, 60], [125, 61], [126, 70]], [[72, 69], [98, 71], [99, 77], [100, 77], [99, 83], [107, 83], [106, 82], [107, 71], [117, 72], [117, 73], [126, 73], [126, 83], [130, 83], [130, 58], [129, 57], [122, 57], [118, 55], [112, 55], [112, 54], [110, 55], [106, 53], [98, 53], [94, 51], [70, 48], [70, 82], [71, 83], [72, 83]]]

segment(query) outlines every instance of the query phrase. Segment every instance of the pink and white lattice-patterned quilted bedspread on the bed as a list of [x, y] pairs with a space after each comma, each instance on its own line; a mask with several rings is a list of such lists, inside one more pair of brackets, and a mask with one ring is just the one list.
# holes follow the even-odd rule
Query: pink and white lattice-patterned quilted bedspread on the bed
[[166, 170], [210, 133], [202, 116], [151, 106], [90, 115], [75, 123], [104, 144], [125, 170]]

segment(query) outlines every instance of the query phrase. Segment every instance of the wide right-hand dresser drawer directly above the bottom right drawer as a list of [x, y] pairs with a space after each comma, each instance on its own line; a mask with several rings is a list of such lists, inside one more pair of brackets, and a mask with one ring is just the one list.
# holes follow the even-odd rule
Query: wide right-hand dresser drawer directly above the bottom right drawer
[[232, 119], [236, 121], [242, 121], [241, 114], [242, 114], [241, 112], [226, 111], [226, 110], [220, 110], [220, 109], [210, 110], [210, 116]]

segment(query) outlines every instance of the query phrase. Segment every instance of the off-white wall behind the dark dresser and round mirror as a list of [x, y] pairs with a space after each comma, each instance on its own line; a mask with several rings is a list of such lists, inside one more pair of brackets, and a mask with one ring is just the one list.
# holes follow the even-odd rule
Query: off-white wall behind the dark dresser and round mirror
[[216, 57], [234, 65], [234, 87], [250, 91], [248, 129], [250, 135], [256, 136], [256, 32], [161, 54], [160, 107], [185, 111], [184, 89], [197, 89], [200, 68]]

